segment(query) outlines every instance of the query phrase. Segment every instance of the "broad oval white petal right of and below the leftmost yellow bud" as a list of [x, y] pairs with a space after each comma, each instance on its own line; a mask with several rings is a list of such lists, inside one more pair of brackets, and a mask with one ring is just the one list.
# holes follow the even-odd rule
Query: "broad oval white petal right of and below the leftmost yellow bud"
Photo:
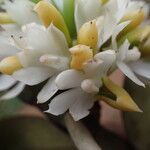
[[36, 85], [48, 79], [54, 73], [54, 69], [46, 67], [29, 67], [16, 71], [13, 77], [27, 85]]

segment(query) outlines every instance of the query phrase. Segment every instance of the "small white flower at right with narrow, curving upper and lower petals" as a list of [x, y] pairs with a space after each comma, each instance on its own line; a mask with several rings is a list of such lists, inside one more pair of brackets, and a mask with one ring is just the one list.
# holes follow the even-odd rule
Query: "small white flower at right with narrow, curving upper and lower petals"
[[128, 40], [125, 40], [125, 42], [119, 48], [117, 46], [116, 37], [128, 24], [129, 22], [123, 22], [119, 24], [115, 28], [115, 31], [112, 35], [112, 48], [116, 51], [117, 55], [116, 65], [129, 79], [131, 79], [136, 84], [145, 87], [145, 85], [135, 76], [133, 71], [127, 65], [127, 63], [137, 61], [140, 58], [141, 53], [138, 48], [134, 47], [129, 49], [130, 43]]

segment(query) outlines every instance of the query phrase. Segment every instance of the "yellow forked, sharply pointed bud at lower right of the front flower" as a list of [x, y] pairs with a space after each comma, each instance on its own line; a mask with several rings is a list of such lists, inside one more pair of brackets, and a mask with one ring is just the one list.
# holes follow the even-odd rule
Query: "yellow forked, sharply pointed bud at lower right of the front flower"
[[142, 112], [141, 109], [132, 100], [130, 95], [123, 88], [113, 83], [109, 78], [104, 78], [103, 82], [106, 88], [116, 95], [117, 99], [112, 100], [105, 96], [99, 96], [98, 99], [103, 100], [116, 109], [123, 111]]

